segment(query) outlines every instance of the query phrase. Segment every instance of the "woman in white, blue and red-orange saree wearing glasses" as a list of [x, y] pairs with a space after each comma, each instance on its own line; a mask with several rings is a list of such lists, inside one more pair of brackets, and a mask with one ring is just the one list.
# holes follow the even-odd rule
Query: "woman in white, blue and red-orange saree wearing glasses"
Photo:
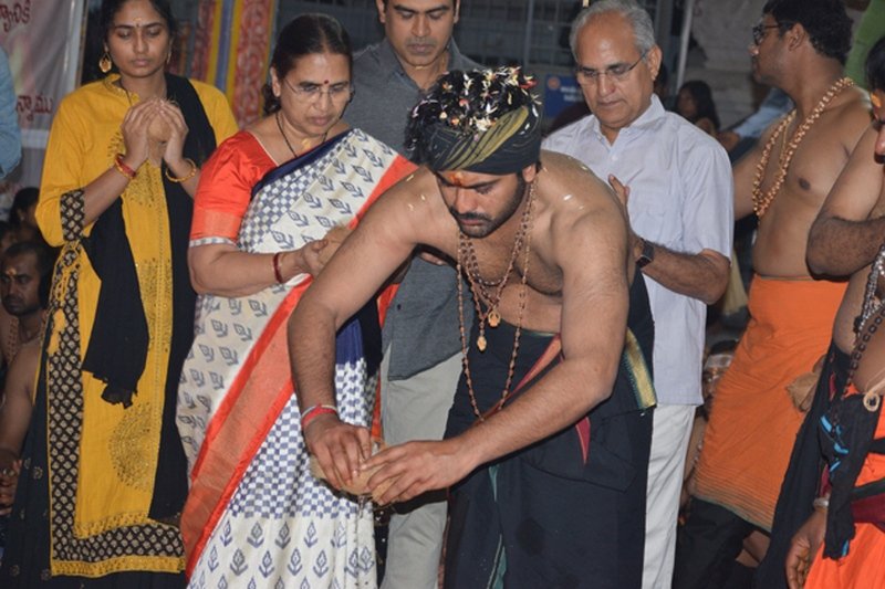
[[371, 423], [378, 309], [368, 305], [339, 336], [335, 408], [299, 408], [285, 340], [336, 228], [413, 167], [341, 119], [351, 67], [334, 19], [295, 18], [273, 52], [267, 116], [222, 144], [200, 180], [189, 260], [201, 296], [178, 401], [194, 587], [376, 582], [371, 506], [311, 475], [302, 427], [331, 411]]

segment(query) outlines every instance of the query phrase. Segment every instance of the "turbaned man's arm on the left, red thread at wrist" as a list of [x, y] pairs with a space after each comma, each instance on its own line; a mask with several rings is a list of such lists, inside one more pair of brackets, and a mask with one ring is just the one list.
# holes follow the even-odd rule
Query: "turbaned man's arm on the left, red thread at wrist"
[[[289, 358], [302, 414], [310, 408], [335, 406], [334, 361], [337, 329], [406, 261], [417, 244], [416, 228], [433, 232], [431, 204], [439, 197], [421, 194], [427, 187], [415, 179], [394, 187], [373, 204], [357, 229], [314, 280], [289, 320]], [[406, 185], [408, 189], [406, 190]], [[436, 203], [437, 218], [445, 208]], [[311, 418], [304, 441], [333, 485], [341, 487], [369, 455], [369, 432], [342, 422], [333, 413]]]

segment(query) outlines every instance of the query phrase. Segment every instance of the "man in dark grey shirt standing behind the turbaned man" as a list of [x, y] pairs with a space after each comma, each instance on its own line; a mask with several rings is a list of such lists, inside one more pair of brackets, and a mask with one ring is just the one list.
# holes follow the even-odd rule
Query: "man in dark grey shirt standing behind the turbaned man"
[[[356, 88], [344, 118], [400, 154], [412, 108], [448, 70], [479, 65], [451, 39], [457, 0], [377, 0], [385, 38], [354, 57]], [[435, 259], [434, 259], [435, 260]], [[466, 306], [468, 320], [472, 307]], [[388, 444], [442, 438], [461, 370], [455, 271], [415, 256], [384, 325], [382, 422]], [[440, 494], [399, 506], [391, 519], [383, 589], [437, 583], [446, 502]]]

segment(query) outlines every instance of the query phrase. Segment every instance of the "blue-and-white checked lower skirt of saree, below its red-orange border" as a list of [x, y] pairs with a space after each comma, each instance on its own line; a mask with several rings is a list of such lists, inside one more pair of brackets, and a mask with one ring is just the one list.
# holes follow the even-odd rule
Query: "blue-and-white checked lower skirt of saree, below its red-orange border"
[[[340, 365], [339, 407], [368, 424], [372, 401], [356, 386], [365, 364]], [[371, 504], [333, 493], [310, 474], [294, 397], [261, 445], [191, 577], [220, 587], [372, 588], [376, 583]]]

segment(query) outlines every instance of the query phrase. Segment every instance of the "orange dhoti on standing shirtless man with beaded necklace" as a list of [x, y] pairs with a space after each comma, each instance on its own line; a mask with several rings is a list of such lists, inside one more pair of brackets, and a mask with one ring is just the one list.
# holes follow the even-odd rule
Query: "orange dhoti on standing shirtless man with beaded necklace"
[[787, 391], [826, 353], [845, 283], [754, 276], [752, 319], [716, 389], [695, 495], [771, 529], [801, 413]]

